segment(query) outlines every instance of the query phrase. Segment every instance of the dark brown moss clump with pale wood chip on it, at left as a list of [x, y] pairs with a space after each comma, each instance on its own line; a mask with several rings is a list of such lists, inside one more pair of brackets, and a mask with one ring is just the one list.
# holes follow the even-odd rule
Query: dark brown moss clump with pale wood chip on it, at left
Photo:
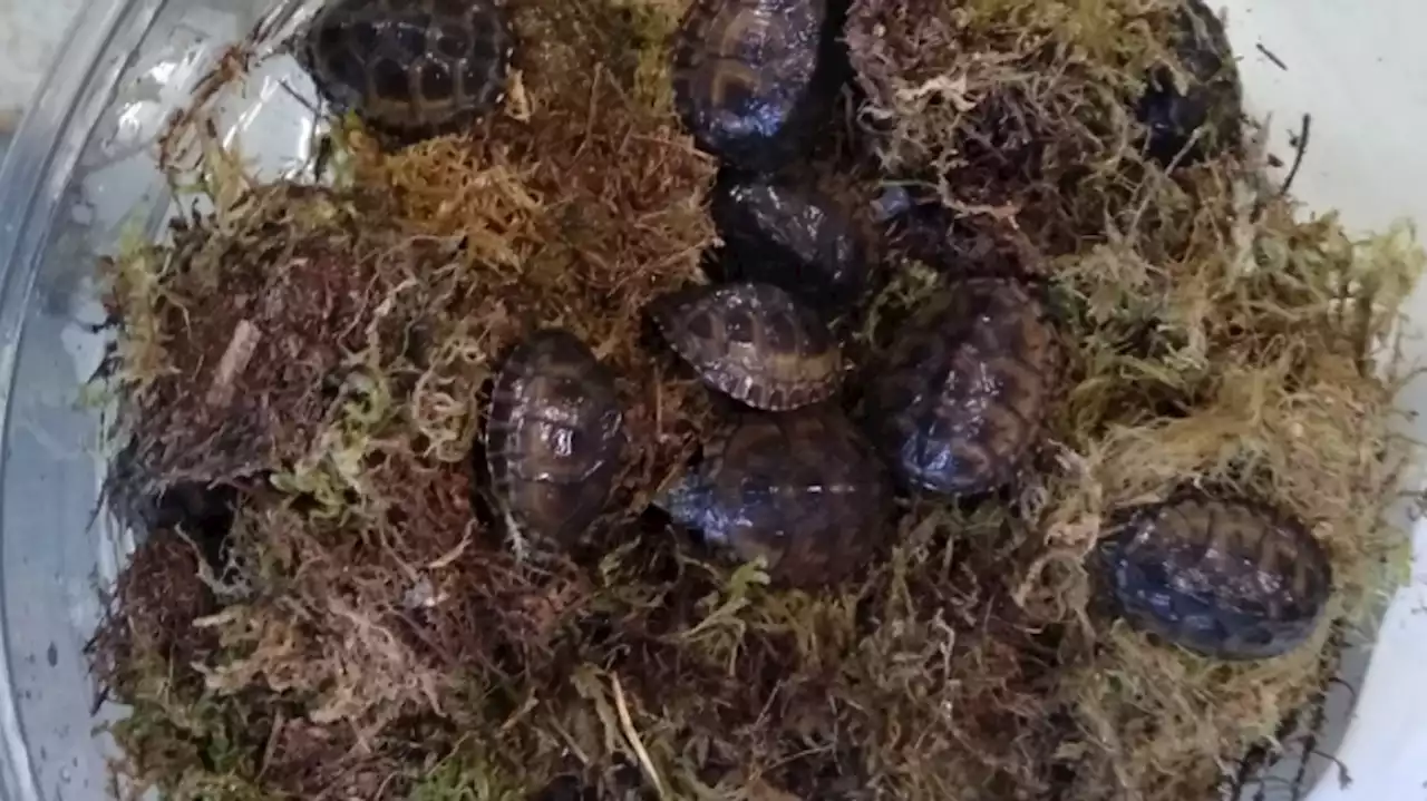
[[[171, 247], [117, 265], [110, 306], [133, 325], [110, 363], [137, 415], [133, 462], [166, 483], [251, 476], [295, 460], [327, 416], [324, 391], [364, 345], [392, 278], [421, 254], [370, 237], [375, 198], [287, 184], [180, 221]], [[143, 315], [128, 304], [143, 299]], [[133, 343], [141, 343], [133, 346]]]

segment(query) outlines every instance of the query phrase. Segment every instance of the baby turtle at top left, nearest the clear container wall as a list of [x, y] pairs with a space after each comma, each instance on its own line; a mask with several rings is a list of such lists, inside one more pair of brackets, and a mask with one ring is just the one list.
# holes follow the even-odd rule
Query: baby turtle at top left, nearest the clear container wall
[[332, 104], [421, 138], [495, 108], [512, 51], [501, 0], [332, 0], [305, 31], [301, 60]]

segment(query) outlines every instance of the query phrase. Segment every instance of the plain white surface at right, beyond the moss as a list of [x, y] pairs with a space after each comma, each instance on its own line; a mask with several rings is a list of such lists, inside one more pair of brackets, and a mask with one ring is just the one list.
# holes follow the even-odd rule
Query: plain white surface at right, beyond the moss
[[[1212, 3], [1214, 0], [1210, 0]], [[1411, 218], [1427, 228], [1427, 31], [1424, 0], [1217, 0], [1240, 56], [1250, 113], [1271, 113], [1271, 150], [1290, 160], [1290, 133], [1313, 115], [1307, 155], [1293, 192], [1316, 208], [1337, 207], [1350, 227], [1384, 228]], [[1280, 68], [1257, 46], [1279, 57]], [[1427, 328], [1427, 292], [1411, 305]], [[1411, 345], [1417, 359], [1427, 343]], [[1427, 410], [1417, 382], [1403, 405]], [[1427, 425], [1414, 433], [1427, 440]], [[1411, 586], [1393, 600], [1373, 650], [1359, 704], [1337, 758], [1311, 801], [1427, 798], [1427, 527], [1414, 532]], [[1319, 757], [1321, 760], [1321, 757]], [[1269, 798], [1283, 798], [1269, 788]]]

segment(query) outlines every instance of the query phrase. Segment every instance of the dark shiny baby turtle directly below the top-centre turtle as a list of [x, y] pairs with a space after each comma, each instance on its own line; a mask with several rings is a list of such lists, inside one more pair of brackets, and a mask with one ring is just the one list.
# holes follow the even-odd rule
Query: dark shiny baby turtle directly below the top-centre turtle
[[711, 212], [723, 239], [726, 278], [773, 284], [829, 312], [866, 292], [866, 244], [831, 198], [731, 178], [715, 185]]

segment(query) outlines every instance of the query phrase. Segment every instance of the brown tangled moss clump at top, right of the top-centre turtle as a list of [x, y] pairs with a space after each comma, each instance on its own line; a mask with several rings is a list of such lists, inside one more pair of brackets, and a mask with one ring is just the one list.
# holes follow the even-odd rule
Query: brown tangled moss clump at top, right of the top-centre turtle
[[990, 237], [1017, 269], [1043, 272], [1045, 259], [1136, 225], [1156, 170], [1134, 110], [1152, 70], [1183, 80], [1172, 47], [1180, 6], [853, 3], [846, 36], [862, 118], [888, 177], [946, 212], [942, 259], [975, 264], [962, 239]]

